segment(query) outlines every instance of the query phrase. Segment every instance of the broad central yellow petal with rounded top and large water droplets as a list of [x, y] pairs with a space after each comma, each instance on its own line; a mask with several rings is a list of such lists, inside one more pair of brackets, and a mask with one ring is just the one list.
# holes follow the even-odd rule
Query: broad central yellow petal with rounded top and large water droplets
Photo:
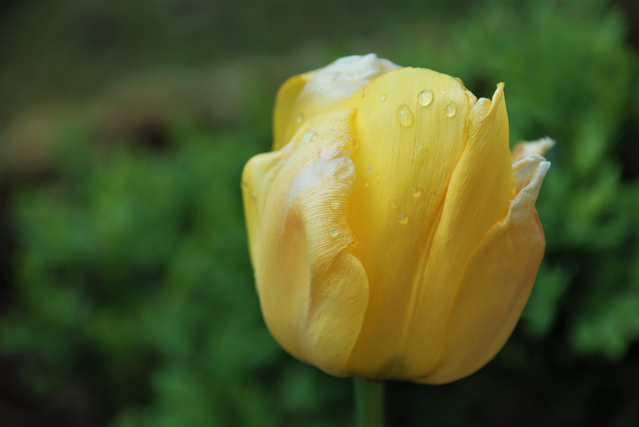
[[351, 155], [357, 181], [348, 212], [358, 244], [350, 251], [370, 283], [351, 373], [392, 377], [403, 371], [399, 359], [415, 274], [466, 146], [474, 102], [448, 75], [402, 68], [373, 80], [347, 103], [357, 108], [358, 145]]

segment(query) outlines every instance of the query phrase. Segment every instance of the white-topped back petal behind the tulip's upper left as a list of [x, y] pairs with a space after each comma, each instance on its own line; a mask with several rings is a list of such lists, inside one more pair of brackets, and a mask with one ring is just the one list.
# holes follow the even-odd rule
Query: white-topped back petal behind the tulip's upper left
[[[368, 82], [395, 68], [399, 66], [375, 54], [347, 56], [312, 73], [287, 80], [276, 102], [273, 149], [284, 146], [305, 121], [319, 112], [341, 107]], [[289, 101], [293, 95], [296, 96], [294, 103]], [[278, 103], [282, 107], [278, 107]], [[282, 126], [284, 123], [288, 126]], [[286, 131], [281, 133], [284, 127]]]

